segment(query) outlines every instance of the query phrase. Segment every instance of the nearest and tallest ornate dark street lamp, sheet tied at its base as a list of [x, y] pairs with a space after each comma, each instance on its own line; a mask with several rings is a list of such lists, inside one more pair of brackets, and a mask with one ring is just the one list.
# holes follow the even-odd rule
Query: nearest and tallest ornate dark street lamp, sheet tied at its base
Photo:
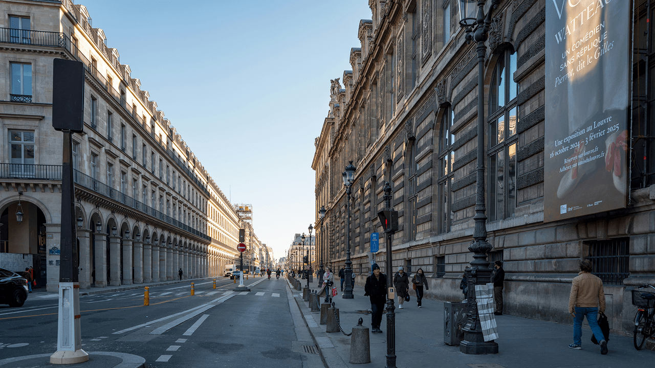
[[[500, 0], [492, 0], [489, 12], [485, 14], [484, 0], [460, 0], [460, 21], [462, 28], [466, 29], [466, 42], [477, 43], [477, 185], [476, 185], [476, 215], [473, 242], [468, 250], [474, 253], [470, 267], [466, 268], [466, 282], [468, 284], [468, 320], [464, 325], [464, 340], [459, 345], [459, 351], [464, 354], [497, 354], [498, 344], [494, 341], [485, 341], [482, 335], [479, 316], [477, 314], [476, 285], [486, 285], [491, 281], [491, 268], [487, 261], [487, 252], [493, 247], [487, 242], [487, 215], [485, 215], [485, 121], [484, 107], [485, 95], [484, 69], [487, 46], [485, 42], [489, 37], [491, 26], [491, 13]], [[477, 3], [477, 9], [476, 9]], [[474, 18], [474, 14], [477, 16]]]

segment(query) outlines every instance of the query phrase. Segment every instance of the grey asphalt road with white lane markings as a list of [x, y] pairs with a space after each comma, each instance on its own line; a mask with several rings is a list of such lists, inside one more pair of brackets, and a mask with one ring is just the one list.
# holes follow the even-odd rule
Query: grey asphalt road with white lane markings
[[[255, 282], [245, 294], [227, 278], [215, 290], [196, 282], [195, 296], [190, 284], [151, 287], [150, 306], [140, 289], [83, 295], [83, 349], [135, 354], [148, 367], [316, 367], [318, 356], [293, 351], [301, 344], [282, 276], [244, 284]], [[35, 294], [21, 308], [0, 306], [0, 359], [56, 351], [57, 299]]]

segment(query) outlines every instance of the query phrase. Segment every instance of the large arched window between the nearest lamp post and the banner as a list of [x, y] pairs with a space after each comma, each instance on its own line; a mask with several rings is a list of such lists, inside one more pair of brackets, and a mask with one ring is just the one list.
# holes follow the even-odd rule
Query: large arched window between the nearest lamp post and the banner
[[489, 221], [513, 217], [516, 209], [516, 147], [519, 87], [512, 75], [516, 53], [498, 58], [489, 88]]

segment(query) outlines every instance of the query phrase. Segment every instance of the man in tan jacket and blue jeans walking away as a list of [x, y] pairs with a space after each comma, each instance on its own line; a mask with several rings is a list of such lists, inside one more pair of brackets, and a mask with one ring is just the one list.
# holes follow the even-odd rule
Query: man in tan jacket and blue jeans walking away
[[607, 354], [607, 341], [598, 325], [598, 312], [605, 312], [603, 281], [591, 274], [591, 261], [585, 259], [580, 262], [580, 273], [573, 279], [569, 296], [569, 313], [573, 316], [573, 343], [569, 348], [582, 349], [582, 321], [587, 316], [593, 336], [601, 345], [601, 354]]

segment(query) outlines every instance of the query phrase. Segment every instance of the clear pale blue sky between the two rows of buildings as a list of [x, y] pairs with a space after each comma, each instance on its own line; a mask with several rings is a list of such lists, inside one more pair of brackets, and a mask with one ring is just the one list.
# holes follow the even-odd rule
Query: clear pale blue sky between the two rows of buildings
[[[76, 0], [282, 257], [314, 223], [314, 138], [367, 0]], [[231, 188], [231, 189], [230, 189]]]

